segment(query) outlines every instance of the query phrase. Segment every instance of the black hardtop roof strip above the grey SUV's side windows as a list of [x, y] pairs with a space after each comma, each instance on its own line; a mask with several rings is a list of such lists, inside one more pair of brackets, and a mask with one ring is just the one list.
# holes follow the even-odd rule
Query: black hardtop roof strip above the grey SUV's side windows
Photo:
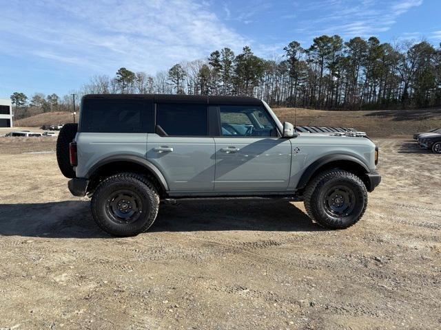
[[205, 104], [260, 105], [262, 101], [249, 96], [202, 96], [177, 94], [87, 94], [83, 100], [153, 100], [154, 102], [183, 102]]

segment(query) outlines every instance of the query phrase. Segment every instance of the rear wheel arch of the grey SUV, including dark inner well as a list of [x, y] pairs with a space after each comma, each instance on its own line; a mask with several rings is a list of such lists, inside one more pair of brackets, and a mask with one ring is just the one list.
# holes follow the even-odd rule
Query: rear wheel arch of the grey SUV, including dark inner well
[[147, 159], [134, 155], [118, 155], [101, 159], [88, 170], [85, 177], [90, 179], [92, 183], [90, 188], [93, 190], [94, 182], [100, 181], [103, 177], [123, 172], [139, 173], [152, 177], [153, 183], [161, 196], [169, 190], [163, 173]]

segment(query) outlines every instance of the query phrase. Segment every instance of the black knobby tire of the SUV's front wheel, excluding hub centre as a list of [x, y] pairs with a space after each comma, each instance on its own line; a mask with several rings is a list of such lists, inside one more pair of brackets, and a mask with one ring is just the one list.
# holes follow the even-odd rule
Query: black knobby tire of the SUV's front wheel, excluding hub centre
[[[338, 188], [340, 187], [340, 188]], [[348, 214], [330, 214], [329, 204], [332, 193], [329, 191], [349, 191], [349, 204], [353, 209]], [[340, 189], [340, 190], [338, 190]], [[305, 189], [305, 208], [309, 217], [319, 225], [328, 229], [348, 228], [361, 219], [367, 207], [367, 189], [363, 181], [356, 175], [345, 170], [327, 170], [312, 179]], [[352, 199], [352, 203], [350, 202]], [[334, 205], [334, 204], [333, 204]]]

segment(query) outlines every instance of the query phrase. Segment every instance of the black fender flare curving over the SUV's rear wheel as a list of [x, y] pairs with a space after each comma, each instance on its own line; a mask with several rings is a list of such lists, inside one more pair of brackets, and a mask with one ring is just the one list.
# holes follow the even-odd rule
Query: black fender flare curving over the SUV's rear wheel
[[115, 155], [110, 157], [105, 157], [98, 162], [96, 162], [90, 170], [88, 170], [88, 173], [85, 175], [85, 178], [88, 179], [94, 175], [96, 170], [99, 170], [102, 166], [105, 166], [110, 163], [114, 162], [129, 162], [137, 165], [143, 166], [146, 170], [148, 170], [150, 173], [154, 175], [154, 177], [158, 180], [159, 184], [161, 184], [161, 188], [163, 191], [168, 191], [168, 184], [165, 180], [165, 177], [163, 173], [161, 173], [161, 170], [159, 170], [154, 164], [149, 162], [147, 159], [144, 159], [139, 156], [135, 155]]

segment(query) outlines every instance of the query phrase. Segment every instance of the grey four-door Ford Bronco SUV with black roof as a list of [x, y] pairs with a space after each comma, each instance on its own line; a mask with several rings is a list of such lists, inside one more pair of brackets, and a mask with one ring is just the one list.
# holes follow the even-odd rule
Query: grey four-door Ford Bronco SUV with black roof
[[381, 179], [369, 138], [298, 133], [249, 97], [87, 95], [79, 124], [61, 129], [57, 160], [115, 236], [145, 232], [161, 201], [183, 198], [305, 201], [319, 225], [347, 228]]

